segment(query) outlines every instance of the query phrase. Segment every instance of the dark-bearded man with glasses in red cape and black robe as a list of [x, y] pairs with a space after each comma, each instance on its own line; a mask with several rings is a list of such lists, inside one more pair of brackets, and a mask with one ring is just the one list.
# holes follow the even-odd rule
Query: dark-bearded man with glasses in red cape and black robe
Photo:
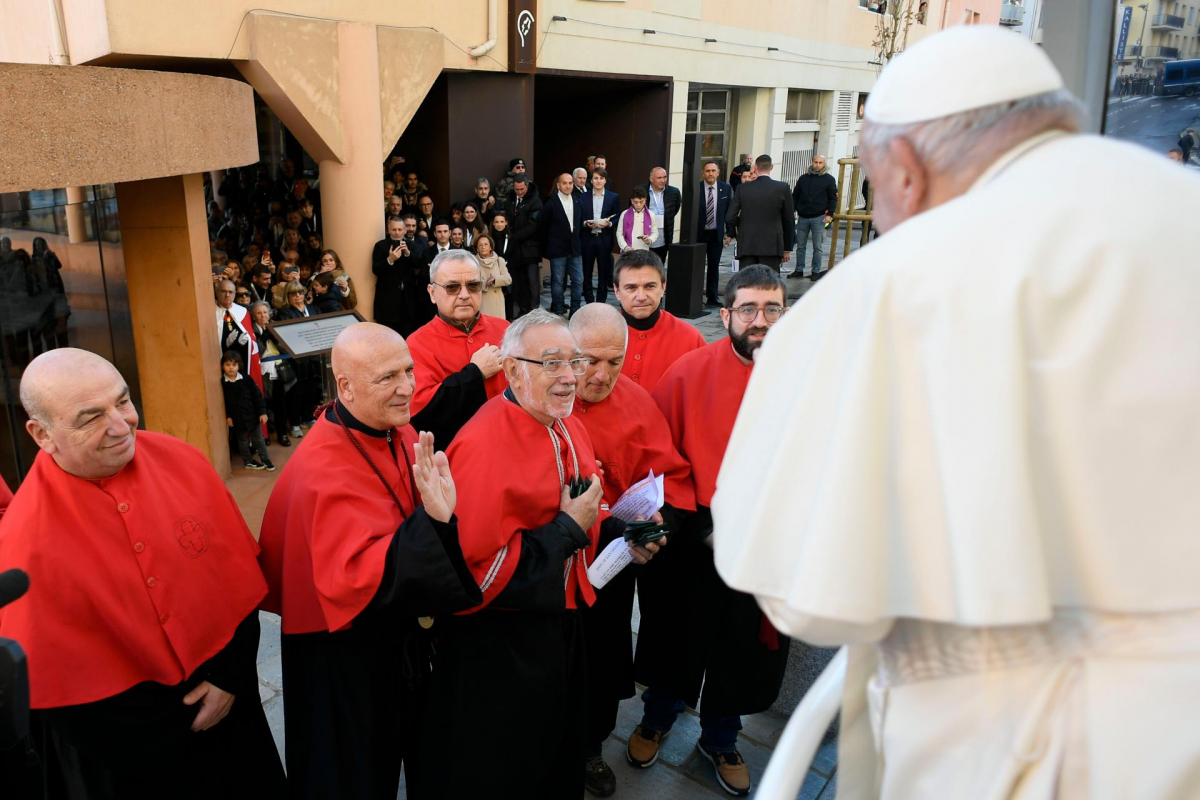
[[697, 513], [664, 551], [668, 558], [652, 565], [660, 569], [648, 570], [640, 581], [635, 672], [647, 690], [626, 757], [635, 766], [652, 766], [679, 711], [697, 708], [697, 748], [713, 763], [721, 787], [738, 796], [750, 793], [750, 772], [737, 750], [742, 716], [775, 702], [788, 639], [767, 621], [751, 595], [730, 589], [716, 575], [709, 507], [754, 351], [782, 315], [786, 296], [770, 267], [739, 271], [725, 287], [721, 308], [728, 339], [680, 357], [653, 392], [676, 449], [691, 464]]

